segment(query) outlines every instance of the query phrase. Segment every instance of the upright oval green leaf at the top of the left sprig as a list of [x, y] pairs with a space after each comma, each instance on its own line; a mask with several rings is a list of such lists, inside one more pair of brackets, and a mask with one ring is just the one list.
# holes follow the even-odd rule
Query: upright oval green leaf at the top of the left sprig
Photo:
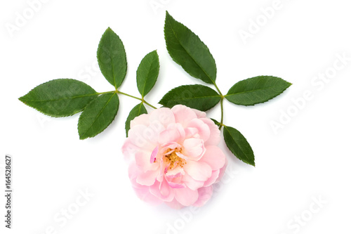
[[104, 77], [117, 89], [127, 72], [124, 45], [110, 27], [105, 31], [98, 47], [98, 63]]

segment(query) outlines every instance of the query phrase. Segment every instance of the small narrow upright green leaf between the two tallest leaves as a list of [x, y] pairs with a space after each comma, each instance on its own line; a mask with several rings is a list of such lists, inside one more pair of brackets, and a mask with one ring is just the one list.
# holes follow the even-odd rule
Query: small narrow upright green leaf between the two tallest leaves
[[157, 51], [148, 53], [136, 71], [136, 82], [141, 96], [145, 97], [150, 92], [159, 76], [159, 56]]

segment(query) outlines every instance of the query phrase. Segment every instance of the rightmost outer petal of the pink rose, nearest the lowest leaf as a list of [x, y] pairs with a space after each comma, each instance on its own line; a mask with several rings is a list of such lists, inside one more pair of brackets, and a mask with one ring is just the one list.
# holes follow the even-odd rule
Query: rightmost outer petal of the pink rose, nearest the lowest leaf
[[215, 145], [208, 145], [204, 156], [201, 157], [201, 162], [206, 162], [212, 170], [221, 169], [225, 165], [225, 155], [223, 151]]

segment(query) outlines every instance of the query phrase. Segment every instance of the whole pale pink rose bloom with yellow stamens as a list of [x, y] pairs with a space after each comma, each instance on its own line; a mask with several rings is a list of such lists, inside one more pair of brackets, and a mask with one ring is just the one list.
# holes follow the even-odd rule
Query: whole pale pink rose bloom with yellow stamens
[[122, 151], [136, 194], [177, 209], [204, 205], [227, 165], [219, 141], [206, 113], [184, 105], [135, 117]]

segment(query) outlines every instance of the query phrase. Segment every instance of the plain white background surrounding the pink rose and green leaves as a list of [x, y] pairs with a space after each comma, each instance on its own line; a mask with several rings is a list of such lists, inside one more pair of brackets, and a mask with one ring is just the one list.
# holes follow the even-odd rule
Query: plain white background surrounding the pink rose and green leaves
[[[351, 61], [329, 82], [314, 80], [333, 72], [337, 54], [351, 57], [350, 3], [282, 0], [265, 22], [260, 8], [273, 2], [51, 0], [11, 35], [6, 25], [15, 25], [29, 4], [1, 1], [0, 163], [4, 166], [5, 154], [13, 156], [14, 193], [10, 231], [4, 228], [1, 195], [0, 233], [350, 233]], [[95, 67], [98, 42], [107, 27], [119, 34], [126, 48], [128, 74], [121, 91], [138, 95], [135, 71], [154, 49], [161, 71], [147, 96], [150, 103], [157, 105], [176, 86], [202, 84], [168, 56], [166, 10], [210, 48], [223, 93], [241, 79], [262, 74], [293, 83], [269, 103], [246, 108], [225, 102], [225, 124], [246, 136], [256, 167], [234, 159], [222, 142], [230, 160], [227, 179], [197, 212], [152, 207], [135, 196], [121, 145], [125, 119], [137, 100], [121, 96], [111, 126], [84, 141], [77, 133], [79, 115], [45, 117], [18, 100], [58, 78], [79, 79], [96, 91], [112, 90]], [[249, 32], [251, 20], [257, 18], [261, 26], [244, 44], [239, 32]], [[305, 91], [313, 98], [297, 109], [293, 100]], [[274, 133], [272, 121], [279, 123], [282, 112], [288, 111], [294, 116]], [[219, 119], [219, 107], [208, 116]], [[73, 209], [79, 191], [86, 189], [93, 197], [64, 223], [60, 212]], [[316, 199], [327, 203], [318, 206]], [[303, 224], [294, 221], [300, 216]]]

